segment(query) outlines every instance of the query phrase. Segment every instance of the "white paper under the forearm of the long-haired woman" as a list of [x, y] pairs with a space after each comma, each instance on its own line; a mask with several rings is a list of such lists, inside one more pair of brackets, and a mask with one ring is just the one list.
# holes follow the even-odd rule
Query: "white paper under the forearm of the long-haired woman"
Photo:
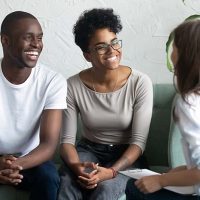
[[[158, 175], [159, 173], [148, 170], [148, 169], [134, 169], [134, 170], [126, 170], [120, 171], [119, 173], [129, 176], [134, 179], [140, 179], [144, 176], [150, 175]], [[164, 187], [167, 190], [179, 193], [179, 194], [194, 194], [194, 187], [193, 186], [167, 186]]]

